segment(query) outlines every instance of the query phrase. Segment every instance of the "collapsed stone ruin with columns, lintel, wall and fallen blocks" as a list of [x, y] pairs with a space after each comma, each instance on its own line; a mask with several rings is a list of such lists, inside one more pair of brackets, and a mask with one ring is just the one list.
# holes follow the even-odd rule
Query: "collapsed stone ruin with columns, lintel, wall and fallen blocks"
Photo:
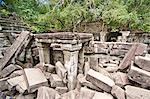
[[23, 31], [0, 63], [2, 99], [150, 98], [150, 55], [143, 43]]

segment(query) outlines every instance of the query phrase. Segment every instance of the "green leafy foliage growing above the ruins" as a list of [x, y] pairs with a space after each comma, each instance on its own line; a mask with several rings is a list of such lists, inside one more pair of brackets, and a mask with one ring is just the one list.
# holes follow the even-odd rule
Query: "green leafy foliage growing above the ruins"
[[[44, 0], [42, 0], [44, 1]], [[82, 22], [102, 21], [112, 31], [150, 32], [149, 0], [6, 0], [33, 31], [73, 31]]]

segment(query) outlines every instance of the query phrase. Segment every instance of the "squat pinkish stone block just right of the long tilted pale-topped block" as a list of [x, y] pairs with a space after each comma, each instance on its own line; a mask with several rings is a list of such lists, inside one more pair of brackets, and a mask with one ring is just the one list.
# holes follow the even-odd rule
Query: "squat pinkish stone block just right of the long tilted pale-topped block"
[[128, 75], [122, 72], [112, 73], [112, 77], [115, 81], [115, 84], [122, 87], [129, 84]]

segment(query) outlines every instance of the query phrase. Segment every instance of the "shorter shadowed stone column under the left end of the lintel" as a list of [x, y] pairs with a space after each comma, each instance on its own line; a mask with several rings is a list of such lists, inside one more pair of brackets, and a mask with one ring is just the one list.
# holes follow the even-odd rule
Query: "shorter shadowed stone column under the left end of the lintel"
[[50, 64], [50, 44], [38, 43], [40, 63]]

